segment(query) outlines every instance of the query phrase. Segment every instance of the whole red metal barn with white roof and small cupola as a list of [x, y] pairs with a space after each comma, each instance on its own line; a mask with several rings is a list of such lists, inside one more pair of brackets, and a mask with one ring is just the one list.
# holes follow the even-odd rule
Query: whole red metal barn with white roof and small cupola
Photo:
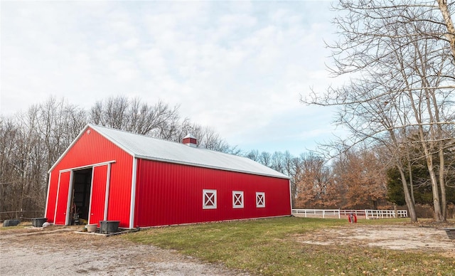
[[88, 124], [49, 170], [45, 217], [57, 225], [77, 217], [137, 228], [289, 215], [287, 176], [200, 149], [191, 136], [181, 144]]

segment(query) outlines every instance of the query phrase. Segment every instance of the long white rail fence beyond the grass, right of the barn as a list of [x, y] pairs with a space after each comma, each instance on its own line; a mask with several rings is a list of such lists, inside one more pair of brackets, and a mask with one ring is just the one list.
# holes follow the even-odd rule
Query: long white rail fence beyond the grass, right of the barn
[[343, 218], [350, 212], [355, 216], [365, 216], [366, 219], [372, 218], [407, 218], [407, 210], [340, 210], [340, 209], [292, 209], [292, 214], [305, 218]]

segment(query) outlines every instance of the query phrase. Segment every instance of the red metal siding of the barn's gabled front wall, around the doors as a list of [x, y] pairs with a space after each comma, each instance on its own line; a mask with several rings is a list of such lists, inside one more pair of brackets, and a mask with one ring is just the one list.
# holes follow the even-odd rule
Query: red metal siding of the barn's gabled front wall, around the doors
[[53, 221], [53, 197], [57, 193], [59, 171], [115, 160], [111, 166], [107, 219], [120, 221], [120, 227], [129, 227], [133, 157], [95, 130], [88, 129], [90, 133], [85, 131], [52, 171], [46, 218]]

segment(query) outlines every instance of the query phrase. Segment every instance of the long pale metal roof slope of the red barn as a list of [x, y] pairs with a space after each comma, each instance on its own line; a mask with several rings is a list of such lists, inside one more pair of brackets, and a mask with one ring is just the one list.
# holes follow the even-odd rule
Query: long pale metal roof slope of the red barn
[[124, 132], [109, 127], [100, 127], [95, 124], [87, 124], [87, 127], [99, 132], [103, 137], [109, 139], [109, 141], [135, 158], [289, 179], [288, 176], [246, 157], [198, 147], [189, 147], [177, 142]]

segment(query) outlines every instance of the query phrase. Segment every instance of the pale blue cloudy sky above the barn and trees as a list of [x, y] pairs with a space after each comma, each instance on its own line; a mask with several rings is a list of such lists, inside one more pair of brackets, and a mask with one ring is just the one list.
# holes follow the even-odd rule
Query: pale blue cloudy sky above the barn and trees
[[50, 95], [180, 105], [248, 151], [297, 155], [340, 134], [299, 102], [336, 83], [329, 1], [1, 1], [0, 109]]

